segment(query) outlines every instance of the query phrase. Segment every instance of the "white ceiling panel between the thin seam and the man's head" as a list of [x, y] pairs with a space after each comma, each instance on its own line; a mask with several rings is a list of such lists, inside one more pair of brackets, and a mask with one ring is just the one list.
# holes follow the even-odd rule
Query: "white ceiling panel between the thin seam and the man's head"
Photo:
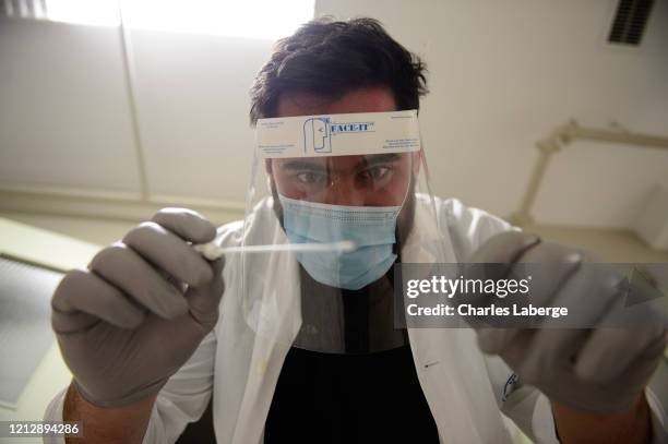
[[243, 202], [248, 89], [273, 41], [136, 31], [132, 43], [152, 190]]

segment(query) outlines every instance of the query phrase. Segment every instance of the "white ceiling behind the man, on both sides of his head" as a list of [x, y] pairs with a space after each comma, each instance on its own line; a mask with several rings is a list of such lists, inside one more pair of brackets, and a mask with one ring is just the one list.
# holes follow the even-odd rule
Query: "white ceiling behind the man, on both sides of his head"
[[[605, 37], [616, 0], [318, 0], [317, 14], [371, 15], [429, 65], [421, 125], [433, 190], [506, 215], [533, 144], [571, 118], [668, 136], [668, 2], [642, 48]], [[271, 41], [131, 33], [150, 190], [244, 200], [248, 87]], [[0, 184], [138, 191], [115, 28], [0, 22]], [[534, 214], [627, 227], [668, 178], [668, 152], [577, 143], [556, 156]]]

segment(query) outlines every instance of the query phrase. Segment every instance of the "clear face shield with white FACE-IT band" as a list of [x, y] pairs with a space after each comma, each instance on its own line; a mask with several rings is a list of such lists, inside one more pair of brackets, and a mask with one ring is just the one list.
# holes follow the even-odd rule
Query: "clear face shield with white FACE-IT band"
[[416, 111], [259, 120], [240, 253], [251, 328], [332, 353], [407, 344], [393, 265], [409, 244], [411, 262], [443, 260], [425, 171]]

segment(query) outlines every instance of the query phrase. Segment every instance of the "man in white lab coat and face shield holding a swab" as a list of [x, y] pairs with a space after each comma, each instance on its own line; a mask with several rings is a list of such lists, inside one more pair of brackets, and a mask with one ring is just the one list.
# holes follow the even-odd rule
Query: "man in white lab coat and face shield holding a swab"
[[[259, 142], [243, 224], [216, 235], [198, 214], [164, 209], [67, 275], [52, 323], [74, 379], [47, 418], [83, 421], [84, 442], [174, 442], [213, 399], [220, 443], [506, 443], [503, 416], [537, 442], [664, 442], [645, 392], [660, 328], [394, 327], [395, 262], [581, 259], [457, 201], [425, 199], [419, 146], [330, 153], [337, 127], [319, 116], [353, 119], [338, 129], [360, 137], [371, 119], [411, 140], [424, 70], [373, 20], [314, 21], [281, 40], [253, 85], [251, 121], [278, 119], [261, 120], [262, 135], [310, 117], [303, 153]], [[214, 237], [273, 252], [207, 262], [190, 243]], [[356, 250], [338, 251], [349, 239]], [[548, 292], [609, 291], [578, 278]]]

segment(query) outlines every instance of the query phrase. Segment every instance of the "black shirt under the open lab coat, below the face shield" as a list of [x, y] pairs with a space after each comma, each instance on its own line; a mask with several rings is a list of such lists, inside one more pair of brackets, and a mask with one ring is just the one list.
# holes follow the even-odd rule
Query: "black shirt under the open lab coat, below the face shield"
[[278, 377], [264, 442], [438, 443], [408, 345], [370, 355], [293, 347]]

